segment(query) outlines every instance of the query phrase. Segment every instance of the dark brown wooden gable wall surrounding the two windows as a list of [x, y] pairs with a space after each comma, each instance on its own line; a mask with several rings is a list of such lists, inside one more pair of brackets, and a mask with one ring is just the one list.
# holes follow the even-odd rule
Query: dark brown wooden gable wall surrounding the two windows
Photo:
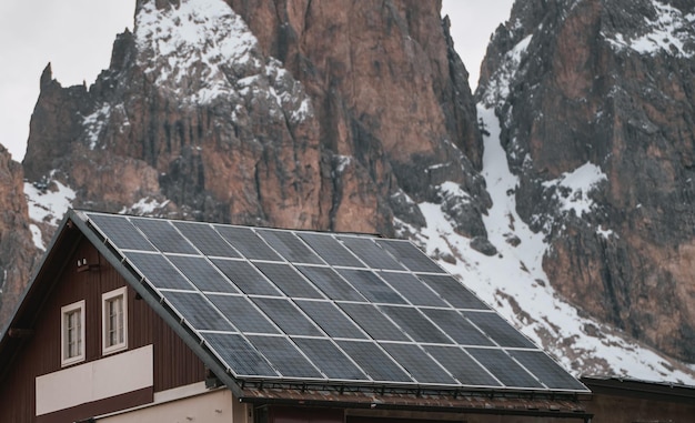
[[[94, 401], [62, 412], [36, 416], [37, 377], [72, 366], [83, 365], [104, 359], [102, 353], [101, 295], [127, 286], [123, 278], [109, 264], [97, 249], [83, 236], [77, 236], [74, 244], [64, 245], [71, 250], [60, 260], [47, 263], [39, 275], [44, 279], [34, 283], [50, 286], [41, 298], [31, 304], [33, 311], [28, 328], [20, 338], [10, 339], [12, 354], [3, 362], [0, 381], [0, 422], [64, 422], [88, 419], [93, 415], [152, 402], [154, 393], [188, 385], [204, 380], [202, 361], [185, 345], [174, 331], [139, 296], [131, 286], [127, 288], [128, 302], [128, 349], [109, 354], [111, 357], [128, 351], [152, 345], [152, 386], [138, 392], [129, 392], [113, 399]], [[78, 259], [85, 259], [89, 268], [78, 268]], [[61, 366], [61, 306], [84, 300], [84, 353], [82, 362]], [[9, 364], [9, 365], [8, 365]], [[128, 369], [123, 369], [128, 372]], [[64, 386], [70, 390], [71, 386]]]

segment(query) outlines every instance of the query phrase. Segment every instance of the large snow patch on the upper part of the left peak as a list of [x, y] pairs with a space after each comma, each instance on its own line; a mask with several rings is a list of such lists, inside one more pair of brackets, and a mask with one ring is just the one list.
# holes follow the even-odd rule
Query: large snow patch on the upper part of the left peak
[[[138, 62], [159, 90], [183, 104], [218, 99], [269, 100], [269, 114], [296, 124], [313, 115], [311, 100], [282, 63], [264, 58], [258, 39], [223, 0], [181, 0], [159, 10], [142, 4], [134, 29]], [[232, 119], [244, 113], [235, 108]]]

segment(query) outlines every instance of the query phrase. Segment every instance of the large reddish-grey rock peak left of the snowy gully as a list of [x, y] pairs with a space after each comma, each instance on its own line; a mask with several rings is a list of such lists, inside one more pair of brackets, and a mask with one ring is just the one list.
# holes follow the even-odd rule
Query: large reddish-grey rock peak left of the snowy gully
[[60, 170], [74, 207], [384, 234], [451, 180], [479, 199], [460, 230], [485, 236], [481, 134], [440, 8], [138, 1], [89, 90], [44, 71], [27, 177]]

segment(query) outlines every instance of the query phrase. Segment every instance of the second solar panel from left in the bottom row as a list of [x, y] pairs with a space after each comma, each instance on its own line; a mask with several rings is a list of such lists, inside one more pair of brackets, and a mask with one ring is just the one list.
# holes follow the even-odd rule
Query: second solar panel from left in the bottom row
[[323, 379], [323, 375], [284, 336], [249, 336], [249, 341], [285, 377]]

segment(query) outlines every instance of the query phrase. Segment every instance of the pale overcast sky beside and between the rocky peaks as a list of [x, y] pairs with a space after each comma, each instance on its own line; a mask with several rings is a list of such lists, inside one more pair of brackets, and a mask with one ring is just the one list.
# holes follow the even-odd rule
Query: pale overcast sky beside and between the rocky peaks
[[[443, 0], [454, 47], [475, 89], [490, 36], [513, 0]], [[0, 144], [21, 161], [39, 79], [50, 62], [63, 87], [88, 85], [109, 67], [115, 36], [132, 30], [135, 0], [0, 1]]]

